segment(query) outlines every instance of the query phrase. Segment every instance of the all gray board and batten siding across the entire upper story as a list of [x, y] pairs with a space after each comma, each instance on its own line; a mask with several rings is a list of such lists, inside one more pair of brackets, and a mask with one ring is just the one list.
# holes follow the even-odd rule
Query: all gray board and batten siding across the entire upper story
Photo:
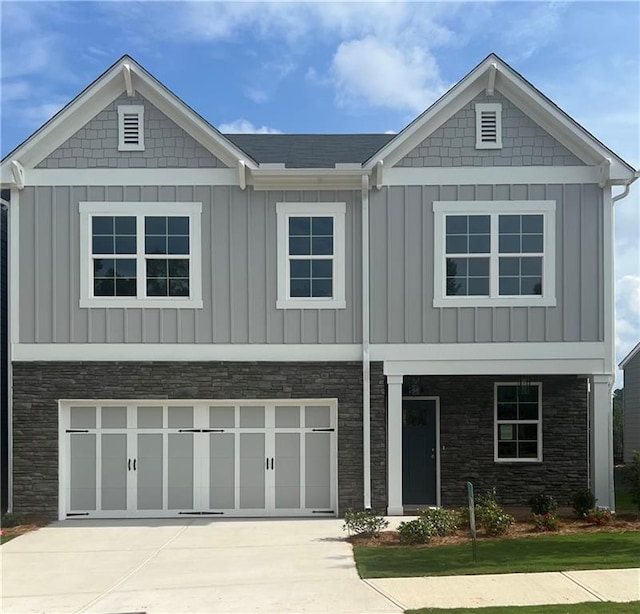
[[[556, 201], [556, 307], [433, 307], [433, 201]], [[81, 201], [201, 202], [203, 309], [79, 307]], [[276, 309], [276, 203], [346, 202], [346, 309]], [[360, 343], [359, 191], [27, 187], [20, 195], [22, 343]], [[371, 192], [373, 343], [601, 341], [596, 185], [406, 186]]]

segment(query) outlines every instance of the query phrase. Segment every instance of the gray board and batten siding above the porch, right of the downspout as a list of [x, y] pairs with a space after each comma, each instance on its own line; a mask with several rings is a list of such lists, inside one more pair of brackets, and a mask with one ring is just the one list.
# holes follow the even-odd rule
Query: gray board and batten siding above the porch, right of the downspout
[[[433, 307], [433, 202], [556, 201], [555, 307]], [[602, 341], [603, 204], [595, 184], [373, 190], [371, 342]]]

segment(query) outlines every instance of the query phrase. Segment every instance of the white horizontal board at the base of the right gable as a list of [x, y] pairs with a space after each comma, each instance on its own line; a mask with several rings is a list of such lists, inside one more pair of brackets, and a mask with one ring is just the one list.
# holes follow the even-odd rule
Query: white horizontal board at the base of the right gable
[[382, 185], [497, 185], [598, 183], [597, 166], [478, 166], [388, 168]]

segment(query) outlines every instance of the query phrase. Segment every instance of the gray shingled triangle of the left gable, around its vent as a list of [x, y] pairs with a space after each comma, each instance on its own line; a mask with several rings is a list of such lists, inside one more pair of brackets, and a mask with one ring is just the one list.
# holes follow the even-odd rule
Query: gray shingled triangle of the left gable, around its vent
[[[144, 150], [118, 150], [118, 106], [144, 107]], [[227, 168], [146, 98], [120, 95], [36, 168]]]

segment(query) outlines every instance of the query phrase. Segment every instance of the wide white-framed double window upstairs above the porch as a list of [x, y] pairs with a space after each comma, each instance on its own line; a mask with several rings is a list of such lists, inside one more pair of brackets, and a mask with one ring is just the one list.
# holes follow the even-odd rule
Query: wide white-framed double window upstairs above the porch
[[555, 202], [435, 202], [434, 306], [555, 305]]

